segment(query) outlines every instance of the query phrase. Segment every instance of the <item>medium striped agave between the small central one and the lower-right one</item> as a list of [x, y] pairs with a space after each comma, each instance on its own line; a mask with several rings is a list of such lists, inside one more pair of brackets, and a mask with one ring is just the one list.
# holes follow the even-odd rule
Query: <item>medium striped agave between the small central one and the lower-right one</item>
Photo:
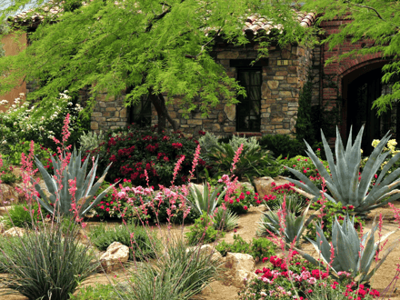
[[261, 222], [259, 222], [256, 235], [265, 236], [269, 235], [270, 232], [275, 235], [284, 235], [282, 237], [285, 237], [286, 244], [291, 244], [295, 240], [295, 245], [298, 246], [300, 243], [300, 237], [303, 235], [305, 228], [315, 218], [315, 215], [310, 215], [308, 219], [305, 219], [310, 205], [307, 205], [303, 215], [300, 216], [296, 216], [295, 213], [286, 210], [284, 233], [281, 232], [281, 220], [276, 211], [270, 210], [268, 213], [263, 213], [264, 215], [261, 217]]

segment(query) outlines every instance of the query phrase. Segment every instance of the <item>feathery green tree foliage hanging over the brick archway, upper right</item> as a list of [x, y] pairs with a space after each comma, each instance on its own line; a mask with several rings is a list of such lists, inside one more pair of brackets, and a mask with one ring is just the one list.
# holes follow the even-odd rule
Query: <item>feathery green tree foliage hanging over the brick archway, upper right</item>
[[[332, 50], [342, 45], [347, 38], [352, 43], [364, 40], [373, 41], [368, 47], [360, 48], [344, 55], [333, 57], [341, 59], [351, 55], [380, 53], [390, 63], [383, 67], [384, 83], [393, 84], [392, 94], [382, 95], [375, 100], [373, 108], [378, 114], [392, 108], [392, 103], [400, 98], [400, 2], [395, 0], [306, 0], [305, 11], [315, 11], [319, 17], [317, 25], [326, 20], [351, 20], [342, 25], [341, 31], [329, 35], [324, 43]], [[332, 60], [330, 60], [332, 61]], [[328, 63], [330, 62], [328, 61]]]

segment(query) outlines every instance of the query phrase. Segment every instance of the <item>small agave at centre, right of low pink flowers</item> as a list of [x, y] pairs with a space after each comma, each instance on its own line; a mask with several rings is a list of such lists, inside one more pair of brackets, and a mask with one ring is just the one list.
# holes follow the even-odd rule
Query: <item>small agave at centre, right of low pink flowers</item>
[[[198, 215], [203, 215], [204, 212], [211, 214], [215, 211], [216, 205], [222, 201], [226, 191], [222, 191], [223, 185], [215, 188], [214, 192], [210, 194], [208, 185], [205, 183], [202, 192], [195, 186], [190, 186], [190, 195], [192, 195], [193, 201], [187, 200], [190, 206], [195, 209]], [[218, 195], [218, 193], [220, 193]]]

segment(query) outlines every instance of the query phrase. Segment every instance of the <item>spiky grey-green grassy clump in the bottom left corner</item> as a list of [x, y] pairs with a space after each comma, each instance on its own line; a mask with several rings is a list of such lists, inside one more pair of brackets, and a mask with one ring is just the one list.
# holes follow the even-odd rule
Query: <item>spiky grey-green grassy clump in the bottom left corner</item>
[[78, 243], [78, 227], [67, 235], [61, 226], [40, 226], [5, 248], [0, 265], [8, 274], [2, 284], [28, 299], [68, 299], [98, 266], [88, 246]]

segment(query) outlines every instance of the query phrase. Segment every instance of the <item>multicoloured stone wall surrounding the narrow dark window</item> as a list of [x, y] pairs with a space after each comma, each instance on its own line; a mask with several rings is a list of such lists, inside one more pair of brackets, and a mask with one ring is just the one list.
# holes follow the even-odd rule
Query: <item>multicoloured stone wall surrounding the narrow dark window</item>
[[[261, 131], [247, 134], [294, 134], [298, 97], [307, 80], [312, 52], [299, 45], [288, 45], [284, 49], [271, 46], [269, 50], [268, 64], [262, 67]], [[229, 76], [235, 78], [237, 72], [235, 67], [231, 67], [231, 60], [255, 59], [256, 55], [254, 48], [238, 48], [225, 44], [215, 47], [216, 61], [225, 66]], [[105, 94], [98, 96], [91, 128], [95, 131], [106, 131], [127, 125], [128, 113], [123, 99], [123, 95], [109, 99], [106, 99]], [[227, 105], [225, 100], [213, 107], [206, 117], [195, 111], [186, 119], [182, 115], [178, 97], [167, 108], [179, 130], [186, 135], [198, 135], [199, 130], [212, 132], [217, 136], [236, 133], [235, 105]], [[152, 125], [156, 123], [157, 115], [153, 107]], [[171, 129], [169, 124], [167, 129]]]

